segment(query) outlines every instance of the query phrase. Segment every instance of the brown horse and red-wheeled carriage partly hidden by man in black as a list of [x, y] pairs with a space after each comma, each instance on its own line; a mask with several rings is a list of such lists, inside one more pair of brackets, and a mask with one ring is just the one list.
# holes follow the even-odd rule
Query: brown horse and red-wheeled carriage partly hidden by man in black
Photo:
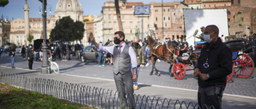
[[[194, 69], [195, 64], [197, 64], [198, 56], [200, 55], [200, 51], [193, 51], [193, 47], [190, 47], [187, 54], [178, 56], [173, 45], [157, 45], [150, 36], [148, 37], [148, 43], [150, 45], [150, 57], [153, 64], [150, 75], [153, 74], [154, 69], [158, 72], [158, 69], [155, 68], [154, 64], [155, 60], [160, 58], [170, 63], [170, 76], [175, 76], [178, 80], [182, 80], [186, 75], [186, 70]], [[200, 42], [200, 45], [202, 45], [201, 43], [202, 42]], [[227, 76], [226, 80], [229, 81], [233, 74], [240, 78], [250, 77], [254, 72], [254, 61], [250, 56], [244, 53], [239, 54], [239, 51], [245, 48], [246, 45], [242, 43], [242, 40], [226, 41], [225, 43], [233, 53], [233, 70], [232, 73]], [[255, 52], [255, 43], [250, 45], [252, 45], [253, 49], [251, 51]], [[196, 50], [198, 50], [198, 48]], [[161, 73], [158, 72], [158, 76], [160, 75]]]

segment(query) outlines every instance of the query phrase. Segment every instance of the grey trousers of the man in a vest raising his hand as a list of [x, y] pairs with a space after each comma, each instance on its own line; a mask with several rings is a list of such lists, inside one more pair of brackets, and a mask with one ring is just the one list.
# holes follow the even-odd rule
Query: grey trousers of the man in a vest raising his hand
[[118, 74], [114, 73], [114, 82], [118, 90], [118, 96], [120, 98], [120, 103], [122, 103], [122, 107], [127, 107], [127, 96], [129, 101], [128, 107], [130, 107], [130, 109], [134, 109], [134, 84], [131, 72], [127, 72], [125, 74], [121, 74], [120, 72], [118, 72]]

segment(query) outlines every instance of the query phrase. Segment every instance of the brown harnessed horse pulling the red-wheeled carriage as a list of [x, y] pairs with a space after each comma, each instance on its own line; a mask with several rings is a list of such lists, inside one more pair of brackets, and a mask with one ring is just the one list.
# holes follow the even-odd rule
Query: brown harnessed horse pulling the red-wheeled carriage
[[166, 45], [158, 45], [156, 41], [150, 36], [147, 36], [147, 44], [150, 47], [150, 58], [152, 61], [152, 70], [150, 75], [153, 75], [154, 69], [158, 73], [158, 76], [161, 75], [161, 72], [158, 72], [158, 69], [155, 67], [157, 59], [165, 60], [170, 64], [169, 72], [170, 76], [174, 76], [174, 73], [171, 72], [172, 65], [176, 63], [176, 55], [174, 45], [168, 43]]

